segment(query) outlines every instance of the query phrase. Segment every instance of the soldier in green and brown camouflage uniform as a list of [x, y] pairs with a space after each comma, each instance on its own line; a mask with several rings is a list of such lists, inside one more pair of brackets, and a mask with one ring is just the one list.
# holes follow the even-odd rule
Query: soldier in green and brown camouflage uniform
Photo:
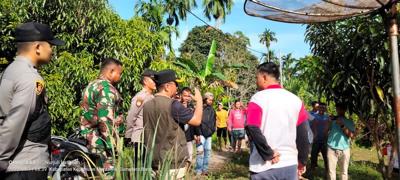
[[112, 147], [116, 155], [116, 135], [123, 128], [123, 115], [118, 115], [122, 99], [112, 85], [120, 80], [121, 73], [122, 63], [106, 58], [101, 63], [98, 78], [90, 82], [82, 92], [82, 135], [89, 153], [95, 157], [96, 166], [103, 168], [107, 178], [114, 176]]

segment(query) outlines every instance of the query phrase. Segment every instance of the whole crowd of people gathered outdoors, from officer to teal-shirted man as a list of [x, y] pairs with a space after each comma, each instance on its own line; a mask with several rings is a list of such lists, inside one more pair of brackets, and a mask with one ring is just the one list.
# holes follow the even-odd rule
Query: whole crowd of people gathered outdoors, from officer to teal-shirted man
[[[53, 37], [48, 25], [31, 22], [16, 27], [15, 41], [18, 56], [0, 78], [0, 173], [4, 173], [4, 179], [46, 179], [49, 163], [10, 162], [50, 158], [47, 95], [37, 67], [50, 61], [51, 45], [64, 42]], [[175, 179], [188, 172], [194, 155], [195, 173], [208, 174], [212, 135], [216, 132], [219, 151], [222, 139], [224, 149], [233, 153], [240, 151], [245, 140], [251, 152], [251, 179], [305, 179], [302, 174], [308, 154], [313, 171], [319, 152], [328, 179], [336, 178], [337, 161], [340, 179], [347, 179], [348, 139], [353, 136], [354, 123], [345, 117], [346, 104], [336, 103], [336, 116], [325, 114], [326, 104], [317, 101], [307, 112], [299, 97], [279, 85], [279, 68], [272, 62], [257, 66], [258, 92], [247, 106], [236, 100], [229, 111], [221, 102], [214, 109], [211, 92], [202, 95], [194, 88], [193, 95], [189, 87], [178, 91], [184, 79], [176, 77], [174, 70], [146, 69], [141, 75], [142, 90], [131, 99], [126, 117], [115, 88], [122, 69], [121, 61], [104, 58], [98, 77], [82, 91], [82, 135], [96, 166], [108, 169], [104, 170], [106, 178], [115, 177], [112, 151], [117, 153], [117, 135], [124, 131], [124, 145], [133, 147], [135, 165], [141, 163], [138, 156], [154, 147], [149, 159], [153, 177], [159, 175], [165, 165], [162, 162], [170, 156], [169, 174]], [[147, 148], [141, 151], [142, 146]], [[32, 170], [38, 166], [43, 169]]]

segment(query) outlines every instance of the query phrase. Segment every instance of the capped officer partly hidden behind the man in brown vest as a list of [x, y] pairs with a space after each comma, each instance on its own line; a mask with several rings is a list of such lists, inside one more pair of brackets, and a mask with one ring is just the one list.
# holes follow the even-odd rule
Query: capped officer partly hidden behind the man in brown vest
[[135, 160], [137, 161], [138, 141], [143, 129], [143, 104], [152, 99], [155, 88], [154, 73], [156, 71], [145, 69], [141, 74], [141, 84], [143, 88], [136, 93], [131, 100], [130, 109], [126, 116], [126, 138], [135, 149]]

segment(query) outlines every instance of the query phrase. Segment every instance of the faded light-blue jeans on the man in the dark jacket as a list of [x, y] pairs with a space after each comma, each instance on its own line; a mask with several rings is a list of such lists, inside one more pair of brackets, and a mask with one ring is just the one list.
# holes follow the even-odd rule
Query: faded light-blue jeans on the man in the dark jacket
[[[201, 145], [196, 143], [196, 173], [206, 171], [208, 168], [209, 156], [211, 155], [211, 135], [204, 137], [200, 135]], [[202, 154], [198, 154], [198, 151], [203, 151]]]

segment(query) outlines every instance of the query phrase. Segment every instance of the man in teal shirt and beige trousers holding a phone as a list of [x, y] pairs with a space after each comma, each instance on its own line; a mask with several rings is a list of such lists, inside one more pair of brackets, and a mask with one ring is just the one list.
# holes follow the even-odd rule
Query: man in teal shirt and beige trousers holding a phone
[[330, 130], [327, 141], [328, 179], [336, 179], [336, 163], [339, 160], [340, 179], [348, 179], [347, 168], [350, 160], [349, 138], [354, 136], [354, 122], [346, 118], [347, 105], [336, 103], [337, 115], [330, 115], [324, 131]]

